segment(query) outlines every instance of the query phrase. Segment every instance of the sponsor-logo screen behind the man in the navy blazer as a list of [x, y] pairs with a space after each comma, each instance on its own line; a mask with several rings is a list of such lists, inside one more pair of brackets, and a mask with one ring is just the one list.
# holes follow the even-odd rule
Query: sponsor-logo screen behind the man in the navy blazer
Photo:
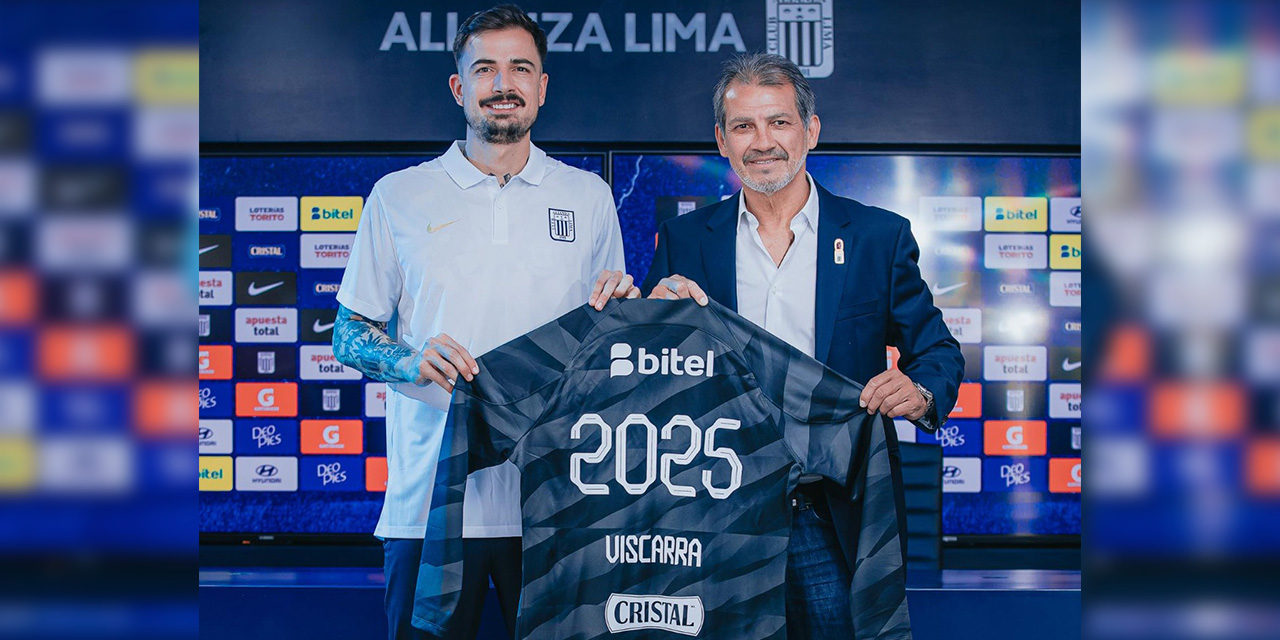
[[[961, 343], [950, 421], [915, 434], [943, 448], [943, 532], [1079, 534], [1079, 159], [818, 154], [808, 168], [833, 193], [911, 220]], [[714, 155], [614, 154], [612, 177], [637, 278], [658, 223], [740, 188]]]

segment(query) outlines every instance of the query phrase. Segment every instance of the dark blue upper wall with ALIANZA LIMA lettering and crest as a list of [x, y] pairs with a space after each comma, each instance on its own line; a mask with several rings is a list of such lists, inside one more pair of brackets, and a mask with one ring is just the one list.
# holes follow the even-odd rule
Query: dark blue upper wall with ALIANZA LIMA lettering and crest
[[[452, 33], [492, 4], [201, 3], [201, 141], [454, 140], [463, 122], [447, 84]], [[1078, 3], [521, 4], [552, 36], [534, 129], [543, 143], [710, 143], [719, 65], [764, 50], [810, 74], [823, 142], [1080, 140]]]

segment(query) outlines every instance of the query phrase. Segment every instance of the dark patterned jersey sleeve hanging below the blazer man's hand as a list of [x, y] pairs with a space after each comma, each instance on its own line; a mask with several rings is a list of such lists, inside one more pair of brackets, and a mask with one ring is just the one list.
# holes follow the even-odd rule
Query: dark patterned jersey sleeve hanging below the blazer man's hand
[[783, 439], [803, 472], [819, 474], [849, 492], [858, 540], [850, 562], [856, 637], [910, 639], [906, 566], [882, 419], [858, 406], [863, 385], [763, 329], [733, 329], [744, 339], [742, 353], [760, 390], [777, 407]]

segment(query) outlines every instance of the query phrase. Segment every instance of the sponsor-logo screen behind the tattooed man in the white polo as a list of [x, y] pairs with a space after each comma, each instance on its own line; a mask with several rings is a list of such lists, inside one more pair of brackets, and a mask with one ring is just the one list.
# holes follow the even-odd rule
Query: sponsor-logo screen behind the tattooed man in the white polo
[[372, 532], [387, 389], [334, 358], [335, 296], [374, 183], [431, 157], [201, 159], [201, 531]]

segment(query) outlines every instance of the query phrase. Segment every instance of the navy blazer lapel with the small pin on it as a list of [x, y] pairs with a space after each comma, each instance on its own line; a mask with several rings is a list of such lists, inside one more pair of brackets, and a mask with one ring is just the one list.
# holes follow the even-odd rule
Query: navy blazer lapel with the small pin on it
[[[846, 274], [852, 269], [849, 229], [852, 221], [845, 204], [818, 186], [818, 291], [814, 296], [814, 358], [827, 362], [831, 335], [836, 328], [836, 310], [845, 291]], [[840, 241], [841, 251], [836, 250]], [[840, 256], [838, 253], [844, 253]], [[836, 264], [840, 260], [841, 264]]]

